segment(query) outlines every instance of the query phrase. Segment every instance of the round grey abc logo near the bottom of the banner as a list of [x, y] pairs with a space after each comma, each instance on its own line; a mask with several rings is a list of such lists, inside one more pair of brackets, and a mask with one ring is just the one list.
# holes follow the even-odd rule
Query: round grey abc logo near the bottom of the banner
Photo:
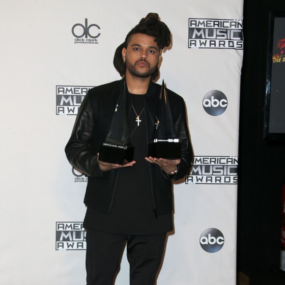
[[207, 253], [216, 253], [224, 246], [225, 238], [217, 228], [208, 228], [200, 236], [200, 246]]

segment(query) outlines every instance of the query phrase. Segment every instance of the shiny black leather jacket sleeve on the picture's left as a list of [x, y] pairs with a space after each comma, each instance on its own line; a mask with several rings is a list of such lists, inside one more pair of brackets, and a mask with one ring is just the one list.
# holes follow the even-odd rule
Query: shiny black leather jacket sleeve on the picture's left
[[108, 178], [112, 171], [101, 171], [97, 161], [97, 153], [90, 147], [95, 131], [96, 121], [93, 117], [89, 92], [78, 110], [71, 137], [65, 146], [65, 154], [69, 163], [89, 176]]

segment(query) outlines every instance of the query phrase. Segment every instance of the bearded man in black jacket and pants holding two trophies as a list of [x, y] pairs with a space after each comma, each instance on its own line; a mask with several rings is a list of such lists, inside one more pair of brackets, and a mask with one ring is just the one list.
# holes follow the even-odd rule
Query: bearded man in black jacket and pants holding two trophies
[[[127, 35], [114, 57], [124, 78], [88, 91], [65, 152], [72, 166], [88, 175], [84, 202], [87, 285], [112, 285], [125, 240], [131, 285], [153, 285], [166, 233], [172, 230], [172, 183], [189, 171], [192, 147], [183, 99], [168, 90], [181, 159], [146, 157], [156, 122], [160, 85], [158, 63], [170, 31], [149, 13]], [[126, 83], [134, 160], [125, 165], [98, 161], [119, 94]]]

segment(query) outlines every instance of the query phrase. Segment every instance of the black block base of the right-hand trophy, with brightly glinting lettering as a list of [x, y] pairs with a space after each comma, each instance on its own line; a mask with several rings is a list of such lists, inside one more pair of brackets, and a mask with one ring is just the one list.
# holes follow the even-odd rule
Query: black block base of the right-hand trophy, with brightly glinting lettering
[[148, 156], [181, 159], [181, 143], [178, 139], [155, 139], [148, 144]]

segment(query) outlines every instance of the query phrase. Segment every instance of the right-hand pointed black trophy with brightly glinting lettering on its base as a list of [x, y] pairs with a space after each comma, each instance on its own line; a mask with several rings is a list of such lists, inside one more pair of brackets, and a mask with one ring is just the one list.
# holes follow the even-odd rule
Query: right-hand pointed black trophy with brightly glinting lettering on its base
[[148, 156], [166, 159], [181, 159], [181, 143], [176, 137], [164, 81], [161, 85], [159, 107], [148, 144]]

